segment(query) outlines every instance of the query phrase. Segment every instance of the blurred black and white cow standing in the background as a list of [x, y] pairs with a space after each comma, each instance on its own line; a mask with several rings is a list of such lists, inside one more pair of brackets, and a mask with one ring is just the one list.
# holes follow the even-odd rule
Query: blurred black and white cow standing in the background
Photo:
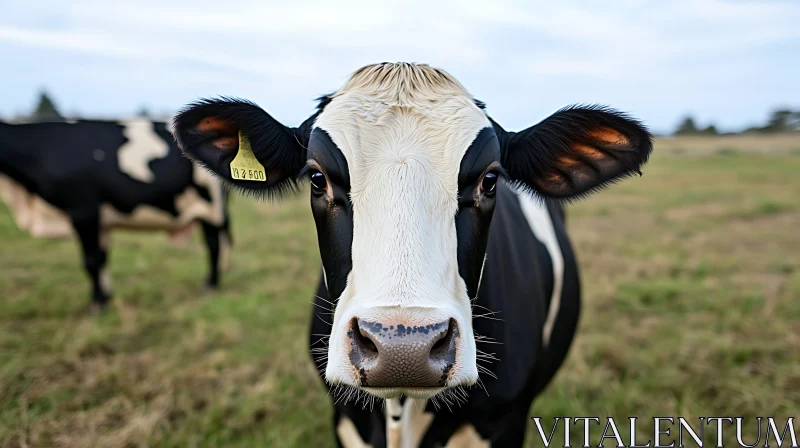
[[92, 305], [111, 296], [112, 228], [188, 232], [200, 221], [216, 287], [230, 246], [222, 183], [183, 157], [165, 123], [0, 123], [0, 193], [37, 237], [77, 234]]

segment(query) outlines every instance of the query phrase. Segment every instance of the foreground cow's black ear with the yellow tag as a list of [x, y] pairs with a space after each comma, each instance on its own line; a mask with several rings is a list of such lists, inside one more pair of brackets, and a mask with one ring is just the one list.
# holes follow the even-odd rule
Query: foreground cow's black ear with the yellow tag
[[297, 185], [313, 118], [289, 128], [249, 101], [204, 99], [178, 113], [173, 130], [183, 153], [227, 184], [273, 196]]

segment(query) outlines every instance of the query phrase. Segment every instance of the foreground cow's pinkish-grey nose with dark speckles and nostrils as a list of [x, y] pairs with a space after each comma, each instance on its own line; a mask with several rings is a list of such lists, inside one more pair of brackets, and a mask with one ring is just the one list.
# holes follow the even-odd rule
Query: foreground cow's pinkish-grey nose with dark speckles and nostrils
[[353, 318], [347, 334], [362, 387], [444, 387], [456, 360], [455, 319], [413, 326]]

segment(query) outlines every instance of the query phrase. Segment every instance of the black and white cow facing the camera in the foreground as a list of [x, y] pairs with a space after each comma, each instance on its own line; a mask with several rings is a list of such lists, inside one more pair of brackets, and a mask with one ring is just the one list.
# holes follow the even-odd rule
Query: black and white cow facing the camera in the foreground
[[[189, 105], [175, 130], [242, 189], [310, 180], [316, 305], [334, 308], [332, 325], [315, 311], [311, 346], [346, 447], [522, 444], [578, 321], [559, 203], [638, 173], [651, 152], [639, 122], [605, 107], [505, 131], [446, 72], [407, 63], [358, 70], [297, 128], [223, 98]], [[232, 178], [242, 136], [265, 181]], [[365, 406], [374, 398], [385, 406]]]

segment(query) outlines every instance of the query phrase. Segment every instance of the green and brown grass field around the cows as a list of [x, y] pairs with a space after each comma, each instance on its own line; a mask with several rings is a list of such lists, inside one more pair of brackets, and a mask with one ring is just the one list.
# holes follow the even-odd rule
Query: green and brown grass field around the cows
[[[800, 141], [770, 145], [666, 141], [643, 177], [569, 209], [584, 311], [532, 416], [800, 417]], [[199, 235], [114, 234], [101, 316], [77, 244], [34, 240], [0, 206], [0, 446], [334, 446], [306, 347], [307, 202], [237, 198], [211, 294]]]

